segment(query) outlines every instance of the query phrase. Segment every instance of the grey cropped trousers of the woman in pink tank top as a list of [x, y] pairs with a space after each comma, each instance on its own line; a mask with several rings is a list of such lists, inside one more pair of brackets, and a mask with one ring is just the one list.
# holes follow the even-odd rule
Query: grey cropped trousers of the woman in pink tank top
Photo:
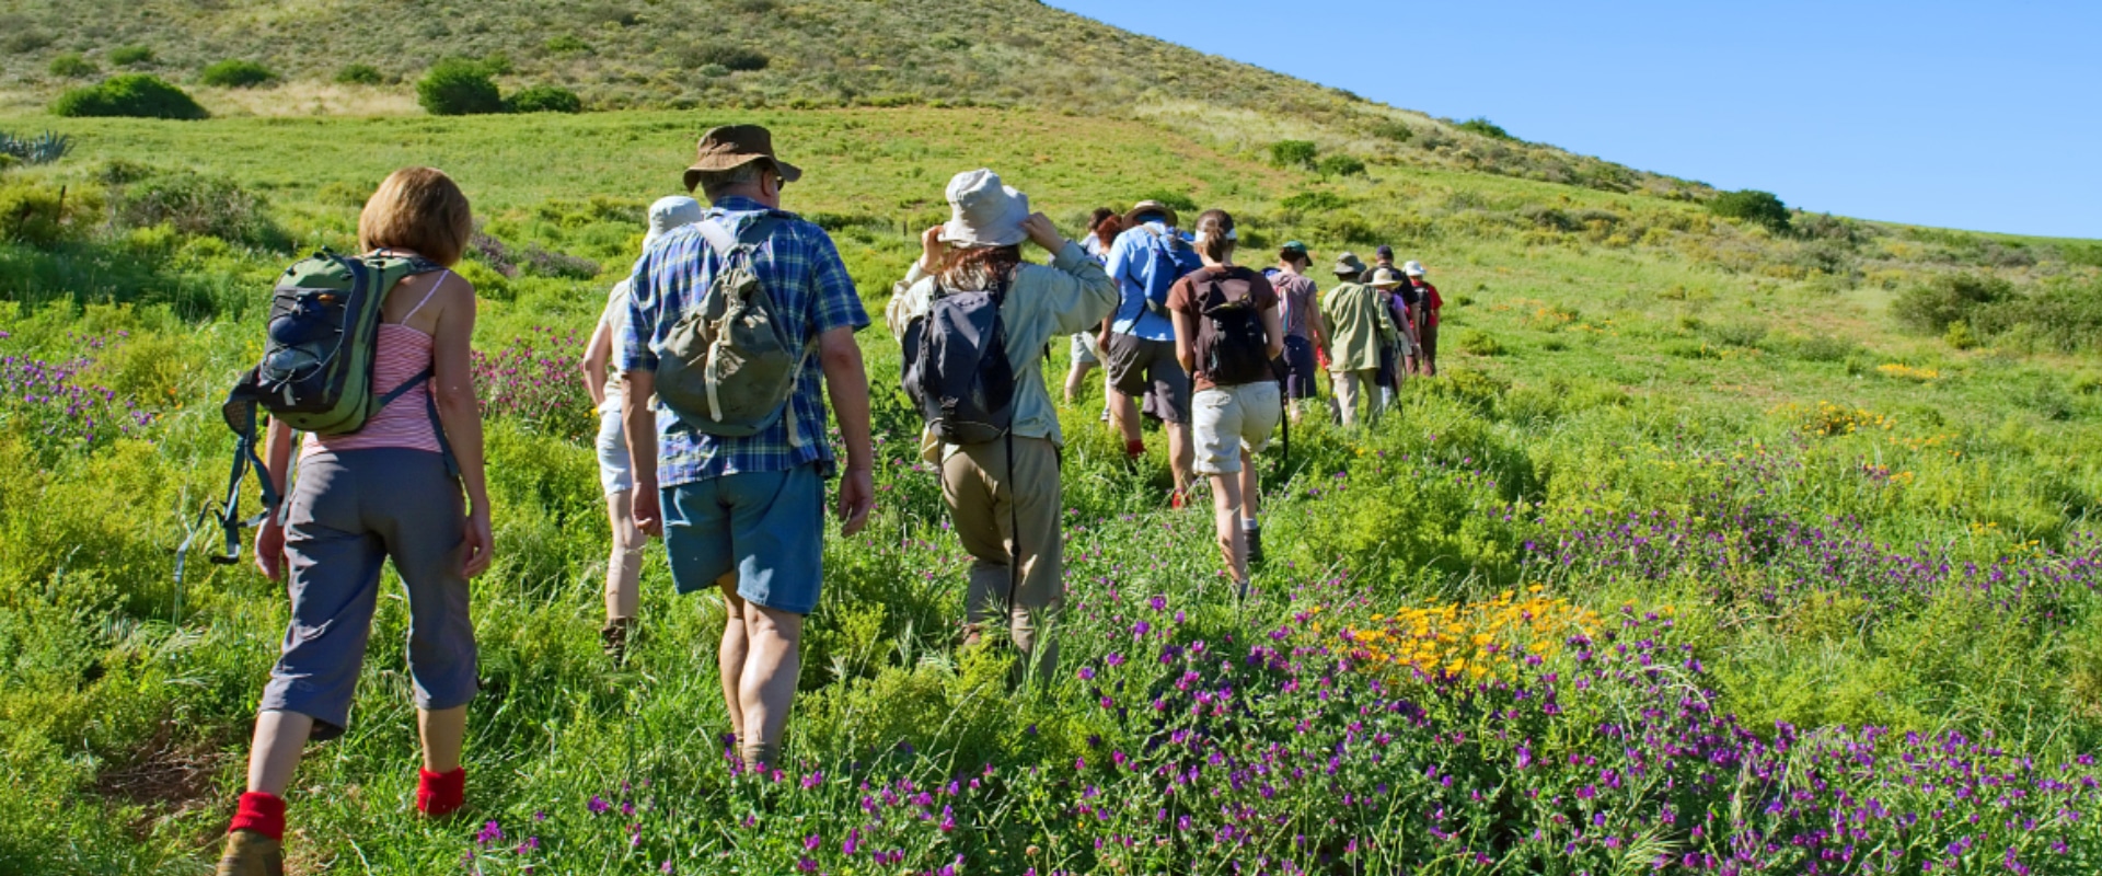
[[315, 739], [349, 727], [385, 561], [408, 590], [416, 708], [467, 706], [479, 683], [465, 536], [467, 502], [439, 454], [376, 447], [303, 458], [284, 538], [292, 624], [261, 708], [311, 716]]

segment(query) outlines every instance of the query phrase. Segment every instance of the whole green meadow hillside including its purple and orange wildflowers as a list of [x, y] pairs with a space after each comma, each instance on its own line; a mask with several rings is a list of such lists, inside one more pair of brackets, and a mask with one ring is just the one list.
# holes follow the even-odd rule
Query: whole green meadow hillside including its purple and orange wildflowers
[[[1099, 397], [1062, 405], [1066, 668], [1013, 691], [1005, 651], [954, 647], [965, 557], [866, 332], [879, 517], [826, 544], [792, 777], [731, 775], [710, 599], [652, 557], [635, 658], [597, 653], [572, 376], [641, 208], [717, 122], [769, 124], [807, 168], [788, 208], [870, 311], [948, 174], [992, 166], [1068, 229], [1167, 195], [1234, 210], [1251, 250], [1392, 242], [1444, 290], [1446, 374], [1375, 431], [1268, 454], [1246, 605], [1209, 521], [1167, 510], [1162, 441], [1125, 468]], [[475, 811], [410, 815], [387, 599], [353, 731], [301, 769], [294, 872], [2102, 868], [2096, 244], [1774, 231], [1406, 162], [1322, 179], [1202, 130], [996, 107], [59, 128], [74, 155], [0, 176], [0, 212], [57, 216], [0, 225], [0, 872], [208, 872], [284, 624], [250, 569], [172, 580], [223, 489], [212, 403], [269, 277], [351, 246], [404, 164], [452, 172], [486, 233], [462, 267], [500, 550], [475, 588]]]

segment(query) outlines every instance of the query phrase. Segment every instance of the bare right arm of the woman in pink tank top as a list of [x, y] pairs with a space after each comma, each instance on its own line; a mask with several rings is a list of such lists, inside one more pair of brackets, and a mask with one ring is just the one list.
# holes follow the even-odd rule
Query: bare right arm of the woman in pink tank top
[[490, 567], [496, 550], [490, 523], [490, 485], [481, 456], [481, 401], [475, 393], [473, 338], [475, 288], [458, 275], [439, 277], [446, 309], [437, 313], [431, 345], [431, 393], [437, 401], [437, 422], [446, 429], [452, 460], [460, 466], [467, 487], [467, 540], [460, 573], [475, 578]]

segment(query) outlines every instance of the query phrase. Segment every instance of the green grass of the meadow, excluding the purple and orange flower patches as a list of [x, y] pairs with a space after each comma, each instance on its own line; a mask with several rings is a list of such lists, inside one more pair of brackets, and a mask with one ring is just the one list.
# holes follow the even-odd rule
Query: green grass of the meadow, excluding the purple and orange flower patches
[[[214, 15], [267, 21], [265, 13]], [[580, 34], [597, 40], [591, 34], [601, 32]], [[122, 29], [107, 38], [141, 42]], [[618, 55], [593, 44], [593, 57]], [[162, 63], [181, 57], [177, 46], [156, 48]], [[965, 853], [973, 872], [1019, 872], [1022, 861], [1083, 872], [1223, 872], [1202, 849], [1093, 847], [1099, 836], [1148, 836], [1150, 807], [1179, 805], [1133, 773], [1104, 771], [1110, 754], [1091, 737], [1154, 756], [1146, 752], [1156, 729], [1095, 708], [1099, 693], [1074, 676], [1089, 666], [1146, 691], [1173, 687], [1179, 670], [1146, 670], [1167, 643], [1133, 643], [1129, 632], [1135, 618], [1169, 626], [1167, 613], [1141, 609], [1154, 595], [1171, 611], [1188, 611], [1173, 624], [1177, 645], [1202, 639], [1225, 649], [1232, 637], [1230, 655], [1240, 658], [1272, 630], [1291, 630], [1293, 643], [1333, 643], [1337, 626], [1316, 632], [1295, 620], [1314, 607], [1333, 624], [1362, 626], [1402, 607], [1545, 584], [1547, 597], [1606, 618], [1621, 605], [1637, 613], [1669, 607], [1675, 626], [1658, 637], [1690, 647], [1707, 666], [1686, 685], [1711, 689], [1717, 712], [1738, 714], [1764, 739], [1785, 737], [1776, 721], [1820, 733], [1860, 725], [1972, 737], [1991, 731], [1997, 746], [2049, 769], [2102, 746], [2096, 592], [1894, 592], [1867, 576], [1761, 552], [1761, 529], [1740, 523], [1774, 517], [1852, 527], [1846, 531], [1892, 550], [1928, 544], [1986, 567], [2026, 569], [2039, 550], [2083, 550], [2089, 513], [2102, 506], [2094, 464], [2102, 368], [2091, 353], [2045, 353], [2007, 336], [1957, 351], [1940, 334], [1915, 334], [1888, 309], [1898, 290], [1949, 271], [2003, 277], [2020, 290], [2102, 290], [2102, 271], [2083, 260], [2091, 244], [1873, 223], [1854, 225], [1846, 239], [1776, 237], [1669, 195], [1398, 162], [1373, 164], [1366, 176], [1320, 179], [1280, 170], [1253, 149], [1219, 147], [1209, 134], [1019, 109], [82, 120], [61, 128], [78, 141], [71, 158], [0, 176], [0, 193], [65, 185], [69, 202], [92, 204], [69, 214], [65, 239], [48, 248], [0, 244], [0, 355], [88, 359], [82, 382], [137, 401], [151, 422], [84, 447], [50, 405], [0, 399], [0, 781], [17, 788], [0, 794], [0, 870], [208, 870], [210, 842], [242, 784], [248, 721], [286, 611], [282, 590], [248, 569], [193, 557], [177, 584], [170, 561], [198, 527], [198, 510], [223, 489], [231, 441], [214, 405], [259, 349], [252, 317], [269, 277], [298, 250], [351, 246], [370, 187], [397, 166], [431, 164], [460, 181], [483, 231], [513, 254], [540, 246], [603, 267], [599, 277], [576, 281], [500, 277], [469, 263], [483, 292], [477, 347], [498, 351], [540, 328], [589, 328], [603, 288], [624, 273], [641, 237], [641, 208], [677, 189], [694, 137], [719, 122], [774, 128], [784, 158], [805, 168], [786, 206], [832, 229], [872, 313], [916, 254], [912, 231], [942, 218], [942, 185], [977, 166], [998, 170], [1066, 229], [1097, 204], [1173, 191], [1234, 210], [1255, 250], [1310, 242], [1318, 265], [1343, 248], [1364, 254], [1394, 242], [1400, 258], [1429, 265], [1448, 303], [1446, 376], [1410, 382], [1406, 408], [1375, 433], [1305, 424], [1293, 431], [1289, 466], [1282, 452], [1263, 462], [1272, 492], [1265, 540], [1276, 561], [1257, 580], [1257, 601], [1240, 609], [1215, 576], [1207, 521], [1165, 513], [1162, 441], [1152, 441], [1150, 464], [1127, 471], [1114, 462], [1116, 439], [1093, 418], [1095, 391], [1064, 408], [1072, 510], [1066, 668], [1055, 685], [1024, 691], [1001, 683], [996, 649], [954, 647], [967, 559], [944, 529], [940, 487], [910, 462], [916, 422], [889, 391], [895, 347], [881, 328], [862, 336], [879, 389], [883, 504], [868, 536], [826, 544], [830, 578], [811, 620], [790, 754], [834, 777], [923, 786], [996, 767], [998, 792], [956, 802], [965, 832], [937, 834], [929, 821], [893, 836], [914, 872], [948, 863], [950, 853]], [[34, 126], [48, 120], [0, 118], [4, 130]], [[269, 227], [248, 231], [246, 244], [124, 227], [145, 191], [223, 191], [185, 183], [193, 179], [225, 179], [261, 195]], [[229, 216], [252, 218], [240, 212], [250, 206], [214, 197], [210, 204]], [[120, 218], [111, 225], [107, 216]], [[2007, 258], [2010, 250], [2028, 258]], [[1469, 334], [1499, 355], [1469, 355], [1461, 340]], [[1064, 345], [1053, 347], [1051, 368], [1062, 368]], [[553, 368], [568, 380], [565, 361]], [[652, 557], [643, 573], [647, 630], [635, 660], [616, 670], [597, 653], [605, 523], [595, 464], [584, 443], [540, 429], [515, 418], [490, 424], [500, 552], [475, 588], [486, 691], [471, 712], [473, 823], [433, 826], [410, 815], [406, 620], [401, 601], [385, 599], [355, 727], [311, 748], [294, 784], [294, 868], [458, 870], [475, 830], [492, 819], [511, 840], [481, 847], [483, 872], [519, 863], [504, 849], [521, 832], [547, 838], [540, 872], [654, 872], [666, 857], [689, 863], [683, 872], [782, 872], [807, 832], [822, 832], [837, 849], [860, 823], [851, 786], [803, 794], [734, 781], [723, 767], [715, 601], [675, 597], [662, 559]], [[1654, 578], [1614, 567], [1610, 552], [1526, 561], [1526, 544], [1612, 529], [1593, 521], [1631, 513], [1686, 521], [1753, 559]], [[200, 542], [210, 536], [202, 531]], [[1108, 655], [1127, 651], [1133, 662], [1114, 674]], [[1570, 658], [1555, 660], [1551, 668], [1574, 672]], [[1284, 712], [1234, 723], [1230, 733], [1207, 723], [1167, 727], [1249, 746], [1291, 744], [1284, 731], [1299, 721], [1310, 721], [1301, 735], [1343, 733], [1354, 718], [1341, 704], [1364, 702], [1349, 681], [1358, 674], [1320, 672], [1335, 681], [1335, 702], [1257, 706]], [[1499, 725], [1474, 697], [1436, 685], [1421, 691], [1440, 727], [1480, 727], [1469, 737], [1495, 746]], [[1534, 727], [1541, 739], [1616, 756], [1619, 746], [1595, 735], [1606, 718], [1589, 712], [1610, 704], [1564, 695], [1570, 716]], [[1356, 765], [1339, 779], [1364, 781], [1352, 786], [1358, 792], [1392, 784], [1392, 794], [1379, 796], [1392, 823], [1358, 828], [1335, 794], [1280, 796], [1310, 834], [1328, 830], [1322, 819], [1343, 819], [1362, 830], [1349, 836], [1406, 840], [1368, 859], [1368, 872], [1442, 855], [1442, 840], [1419, 834], [1421, 826], [1434, 809], [1469, 807], [1413, 779], [1425, 763], [1476, 769], [1467, 775], [1480, 777], [1484, 792], [1545, 781], [1509, 773], [1509, 752], [1476, 763], [1444, 733], [1431, 739], [1396, 727], [1396, 735], [1392, 765]], [[1049, 775], [1068, 775], [1076, 758], [1097, 771], [1089, 781], [1146, 811], [1074, 819], [1066, 807], [1080, 800], [1080, 786]], [[1413, 765], [1406, 773], [1404, 763]], [[618, 802], [624, 781], [643, 788], [645, 779], [647, 790], [628, 792], [647, 802], [633, 819], [586, 815], [595, 794]], [[1547, 788], [1547, 798], [1568, 790], [1558, 788]], [[1524, 838], [1537, 826], [1566, 830], [1553, 828], [1551, 813], [1589, 811], [1534, 811], [1518, 798], [1497, 807], [1467, 809], [1467, 817], [1484, 836], [1507, 840], [1499, 851], [1516, 855], [1507, 872], [1606, 870], [1604, 849], [1560, 857], [1562, 840], [1534, 849]], [[1654, 813], [1654, 802], [1640, 807], [1648, 807], [1642, 817]], [[1627, 802], [1612, 817], [1640, 807]], [[1202, 807], [1192, 811], [1202, 815]], [[757, 828], [729, 828], [748, 815]], [[639, 851], [626, 847], [626, 823], [647, 826]], [[2075, 842], [2085, 857], [2039, 872], [2091, 872], [2102, 838], [2085, 838]], [[1684, 832], [1656, 840], [1692, 849]], [[1408, 857], [1419, 851], [1425, 857]], [[1446, 865], [1486, 872], [1461, 861]], [[1986, 849], [1957, 870], [1997, 863], [1999, 851]], [[902, 868], [881, 872], [893, 870]]]

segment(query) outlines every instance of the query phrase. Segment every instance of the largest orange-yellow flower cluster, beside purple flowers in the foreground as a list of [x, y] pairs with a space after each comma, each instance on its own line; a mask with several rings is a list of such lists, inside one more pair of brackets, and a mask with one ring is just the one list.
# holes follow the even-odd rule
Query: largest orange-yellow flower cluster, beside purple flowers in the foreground
[[1566, 599], [1526, 588], [1480, 603], [1450, 603], [1373, 616], [1343, 641], [1360, 664], [1421, 670], [1467, 681], [1513, 679], [1528, 655], [1551, 658], [1572, 634], [1593, 634], [1600, 618]]

